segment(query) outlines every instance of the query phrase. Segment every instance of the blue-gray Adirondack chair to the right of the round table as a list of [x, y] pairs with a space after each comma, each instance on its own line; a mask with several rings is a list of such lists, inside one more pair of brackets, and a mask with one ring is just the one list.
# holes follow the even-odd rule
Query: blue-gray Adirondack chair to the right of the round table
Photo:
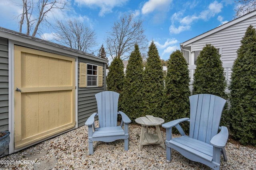
[[[212, 94], [196, 94], [190, 96], [189, 100], [190, 119], [181, 118], [162, 125], [166, 128], [166, 159], [171, 160], [172, 148], [192, 161], [219, 170], [221, 154], [227, 160], [225, 145], [228, 129], [225, 126], [219, 127], [226, 100]], [[179, 125], [182, 121], [190, 121], [189, 136], [185, 135]], [[172, 139], [172, 127], [178, 129], [181, 137]]]

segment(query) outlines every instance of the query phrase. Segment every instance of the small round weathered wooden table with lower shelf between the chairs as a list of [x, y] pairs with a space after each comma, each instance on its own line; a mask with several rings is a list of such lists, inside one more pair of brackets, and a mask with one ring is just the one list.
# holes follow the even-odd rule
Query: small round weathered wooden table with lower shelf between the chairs
[[[146, 115], [144, 117], [138, 117], [135, 122], [141, 125], [140, 133], [140, 146], [139, 150], [142, 150], [143, 145], [160, 144], [165, 150], [165, 143], [160, 131], [160, 125], [164, 123], [164, 119], [160, 117], [154, 117], [152, 115]], [[157, 134], [148, 133], [148, 126], [155, 126]], [[146, 132], [145, 132], [146, 127]]]

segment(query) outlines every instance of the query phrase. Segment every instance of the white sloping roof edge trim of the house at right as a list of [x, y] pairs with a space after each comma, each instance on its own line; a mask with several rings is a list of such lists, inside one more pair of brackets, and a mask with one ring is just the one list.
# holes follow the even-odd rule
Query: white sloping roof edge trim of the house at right
[[198, 35], [198, 36], [196, 36], [196, 37], [194, 37], [192, 39], [189, 39], [188, 41], [185, 41], [184, 43], [180, 43], [180, 47], [190, 46], [191, 43], [194, 43], [195, 41], [198, 41], [199, 39], [207, 37], [208, 35], [216, 33], [216, 32], [218, 32], [218, 31], [220, 31], [222, 29], [230, 27], [230, 26], [232, 26], [232, 25], [234, 25], [236, 23], [239, 23], [239, 22], [241, 22], [243, 20], [246, 20], [246, 19], [248, 19], [248, 18], [250, 18], [252, 16], [255, 16], [255, 15], [256, 15], [256, 10], [253, 11], [253, 12], [250, 12], [248, 14], [245, 14], [244, 16], [236, 18], [236, 19], [234, 19], [232, 21], [229, 21], [229, 22], [227, 22], [227, 23], [225, 23], [223, 25], [220, 25], [220, 26], [218, 26], [218, 27], [216, 27], [214, 29], [211, 29], [210, 31], [207, 31], [207, 32], [205, 32], [205, 33], [203, 33], [201, 35]]

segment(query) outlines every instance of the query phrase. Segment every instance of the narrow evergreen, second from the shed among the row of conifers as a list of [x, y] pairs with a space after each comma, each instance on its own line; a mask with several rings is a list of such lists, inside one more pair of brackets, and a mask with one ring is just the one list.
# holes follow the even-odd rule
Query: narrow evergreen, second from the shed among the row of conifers
[[139, 46], [135, 44], [126, 67], [125, 83], [122, 90], [121, 107], [134, 121], [141, 115], [143, 64]]

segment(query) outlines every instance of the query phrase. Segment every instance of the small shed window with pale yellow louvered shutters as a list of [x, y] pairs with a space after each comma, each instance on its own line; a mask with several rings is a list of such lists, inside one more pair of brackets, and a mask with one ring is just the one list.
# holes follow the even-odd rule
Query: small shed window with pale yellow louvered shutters
[[79, 87], [102, 87], [103, 67], [95, 64], [80, 63]]

